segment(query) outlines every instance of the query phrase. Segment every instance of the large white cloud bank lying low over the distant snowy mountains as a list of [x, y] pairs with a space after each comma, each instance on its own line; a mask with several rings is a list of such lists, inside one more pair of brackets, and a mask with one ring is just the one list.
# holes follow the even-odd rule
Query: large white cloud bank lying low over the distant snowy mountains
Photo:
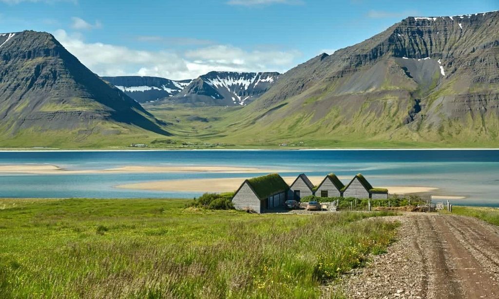
[[229, 45], [170, 51], [134, 50], [105, 43], [86, 43], [79, 34], [59, 29], [55, 38], [100, 76], [140, 75], [192, 79], [209, 71], [278, 71], [294, 66], [298, 51], [244, 50]]

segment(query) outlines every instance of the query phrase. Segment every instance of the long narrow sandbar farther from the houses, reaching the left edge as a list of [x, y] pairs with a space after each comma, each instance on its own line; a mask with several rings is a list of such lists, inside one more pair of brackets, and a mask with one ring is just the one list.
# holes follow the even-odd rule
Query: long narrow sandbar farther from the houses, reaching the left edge
[[25, 174], [80, 174], [80, 173], [167, 173], [167, 172], [220, 172], [220, 173], [261, 173], [278, 172], [277, 169], [238, 166], [123, 166], [109, 169], [64, 169], [50, 164], [0, 165], [0, 173]]

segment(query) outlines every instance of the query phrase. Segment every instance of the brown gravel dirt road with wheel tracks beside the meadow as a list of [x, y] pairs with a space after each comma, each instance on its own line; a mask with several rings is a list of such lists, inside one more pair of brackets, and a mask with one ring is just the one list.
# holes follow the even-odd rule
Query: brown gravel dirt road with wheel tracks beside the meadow
[[398, 241], [339, 283], [349, 298], [499, 298], [499, 228], [457, 215], [408, 213]]

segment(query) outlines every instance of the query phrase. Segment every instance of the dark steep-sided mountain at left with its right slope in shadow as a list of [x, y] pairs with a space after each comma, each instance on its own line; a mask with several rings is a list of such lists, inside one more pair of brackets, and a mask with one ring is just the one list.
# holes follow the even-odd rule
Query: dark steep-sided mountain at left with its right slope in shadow
[[2, 144], [85, 143], [147, 131], [168, 135], [139, 103], [101, 80], [49, 33], [0, 34], [0, 74]]

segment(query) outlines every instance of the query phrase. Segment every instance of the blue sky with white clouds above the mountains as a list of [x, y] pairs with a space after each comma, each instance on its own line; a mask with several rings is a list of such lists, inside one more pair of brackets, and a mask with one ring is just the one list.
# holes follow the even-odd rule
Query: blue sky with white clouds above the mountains
[[407, 16], [499, 9], [499, 0], [0, 0], [0, 32], [52, 33], [100, 76], [192, 79], [285, 72]]

